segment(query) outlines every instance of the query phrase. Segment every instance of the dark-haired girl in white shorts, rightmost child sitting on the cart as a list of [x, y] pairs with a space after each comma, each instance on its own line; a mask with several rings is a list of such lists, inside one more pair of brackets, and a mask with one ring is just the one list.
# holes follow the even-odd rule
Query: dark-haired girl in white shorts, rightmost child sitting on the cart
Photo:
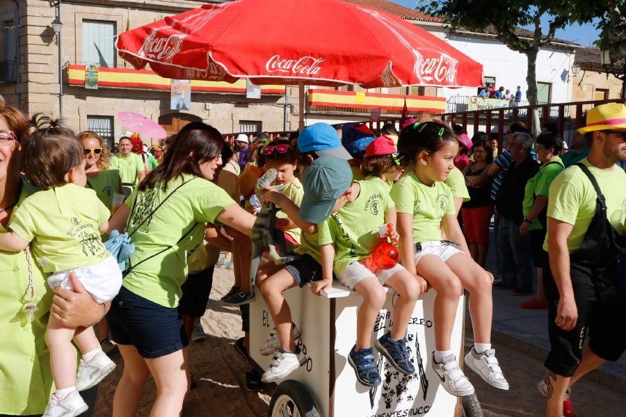
[[[412, 275], [424, 277], [437, 291], [433, 372], [452, 395], [474, 393], [450, 349], [459, 298], [467, 288], [476, 343], [465, 363], [491, 386], [508, 390], [490, 344], [491, 277], [472, 260], [456, 219], [451, 190], [444, 183], [454, 168], [456, 135], [442, 122], [417, 122], [403, 129], [398, 150], [408, 167], [408, 174], [391, 191], [398, 211], [401, 261]], [[442, 240], [441, 226], [450, 240]]]

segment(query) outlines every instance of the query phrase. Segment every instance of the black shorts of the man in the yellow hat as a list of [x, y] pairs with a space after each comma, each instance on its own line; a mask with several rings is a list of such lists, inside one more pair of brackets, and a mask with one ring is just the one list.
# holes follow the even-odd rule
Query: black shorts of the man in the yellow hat
[[[544, 252], [545, 254], [545, 252]], [[545, 254], [543, 282], [549, 300], [548, 333], [551, 349], [545, 367], [554, 373], [571, 377], [578, 367], [586, 336], [589, 348], [606, 361], [617, 361], [626, 350], [626, 300], [617, 289], [604, 286], [602, 291], [592, 278], [604, 277], [610, 282], [613, 272], [599, 272], [570, 262], [570, 277], [578, 310], [576, 326], [566, 332], [554, 322], [559, 305], [559, 291]], [[604, 275], [604, 276], [603, 276]]]

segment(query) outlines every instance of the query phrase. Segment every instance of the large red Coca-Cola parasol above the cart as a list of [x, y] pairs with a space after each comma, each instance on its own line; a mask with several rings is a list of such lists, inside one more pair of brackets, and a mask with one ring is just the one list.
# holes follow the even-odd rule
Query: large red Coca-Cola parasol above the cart
[[482, 84], [483, 67], [399, 17], [340, 0], [207, 4], [120, 34], [120, 56], [172, 79], [253, 83]]

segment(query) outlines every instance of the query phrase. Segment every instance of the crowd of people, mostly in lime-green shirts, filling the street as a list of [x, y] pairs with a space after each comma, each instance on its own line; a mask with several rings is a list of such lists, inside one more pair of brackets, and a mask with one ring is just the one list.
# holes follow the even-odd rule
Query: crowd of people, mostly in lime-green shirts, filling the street
[[[334, 279], [362, 295], [346, 352], [360, 384], [381, 382], [376, 351], [415, 373], [408, 319], [433, 288], [430, 365], [442, 388], [474, 393], [451, 350], [467, 290], [474, 344], [465, 364], [508, 390], [491, 345], [492, 286], [504, 286], [515, 295], [536, 291], [522, 307], [548, 309], [552, 350], [539, 388], [548, 417], [573, 415], [572, 384], [626, 348], [623, 322], [608, 324], [625, 313], [617, 276], [626, 173], [616, 165], [626, 161], [625, 120], [623, 104], [597, 106], [564, 155], [563, 139], [549, 129], [533, 138], [513, 122], [504, 149], [484, 132], [470, 139], [433, 117], [406, 120], [401, 131], [384, 126], [377, 138], [363, 123], [316, 123], [276, 138], [241, 134], [232, 145], [193, 122], [152, 152], [124, 136], [111, 155], [94, 132], [75, 134], [41, 116], [29, 122], [0, 106], [0, 268], [8, 278], [0, 326], [16, 336], [0, 345], [0, 356], [12, 358], [0, 380], [0, 415], [89, 413], [97, 384], [115, 368], [113, 348], [124, 362], [113, 416], [136, 414], [150, 375], [152, 415], [179, 415], [192, 384], [187, 346], [206, 337], [199, 320], [218, 262], [232, 263], [234, 283], [222, 300], [241, 309], [244, 336], [235, 348], [248, 361], [250, 391], [306, 361], [284, 291], [319, 295]], [[267, 170], [279, 190], [259, 192]], [[264, 262], [250, 279], [255, 215], [268, 204], [280, 208], [275, 227], [297, 256]], [[497, 270], [488, 272], [494, 214]], [[378, 265], [372, 253], [387, 224], [399, 262]], [[399, 294], [394, 325], [371, 343], [383, 286]], [[257, 297], [274, 329], [253, 346], [249, 305]], [[273, 355], [262, 375], [252, 349]]]

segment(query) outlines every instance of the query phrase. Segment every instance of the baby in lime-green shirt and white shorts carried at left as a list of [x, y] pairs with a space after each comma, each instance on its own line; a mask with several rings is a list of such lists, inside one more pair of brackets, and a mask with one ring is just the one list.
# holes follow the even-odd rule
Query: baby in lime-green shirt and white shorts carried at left
[[[100, 240], [109, 225], [109, 209], [94, 190], [83, 188], [86, 161], [74, 133], [47, 118], [37, 128], [22, 149], [22, 170], [40, 191], [14, 211], [10, 231], [0, 234], [0, 250], [17, 252], [32, 243], [33, 257], [44, 272], [52, 272], [51, 288], [73, 290], [74, 275], [106, 310], [105, 303], [122, 285], [118, 263]], [[67, 328], [51, 315], [45, 338], [56, 391], [44, 416], [68, 411], [76, 416], [87, 409], [78, 391], [102, 381], [115, 363], [100, 349], [93, 327]], [[78, 373], [72, 339], [82, 353]]]

